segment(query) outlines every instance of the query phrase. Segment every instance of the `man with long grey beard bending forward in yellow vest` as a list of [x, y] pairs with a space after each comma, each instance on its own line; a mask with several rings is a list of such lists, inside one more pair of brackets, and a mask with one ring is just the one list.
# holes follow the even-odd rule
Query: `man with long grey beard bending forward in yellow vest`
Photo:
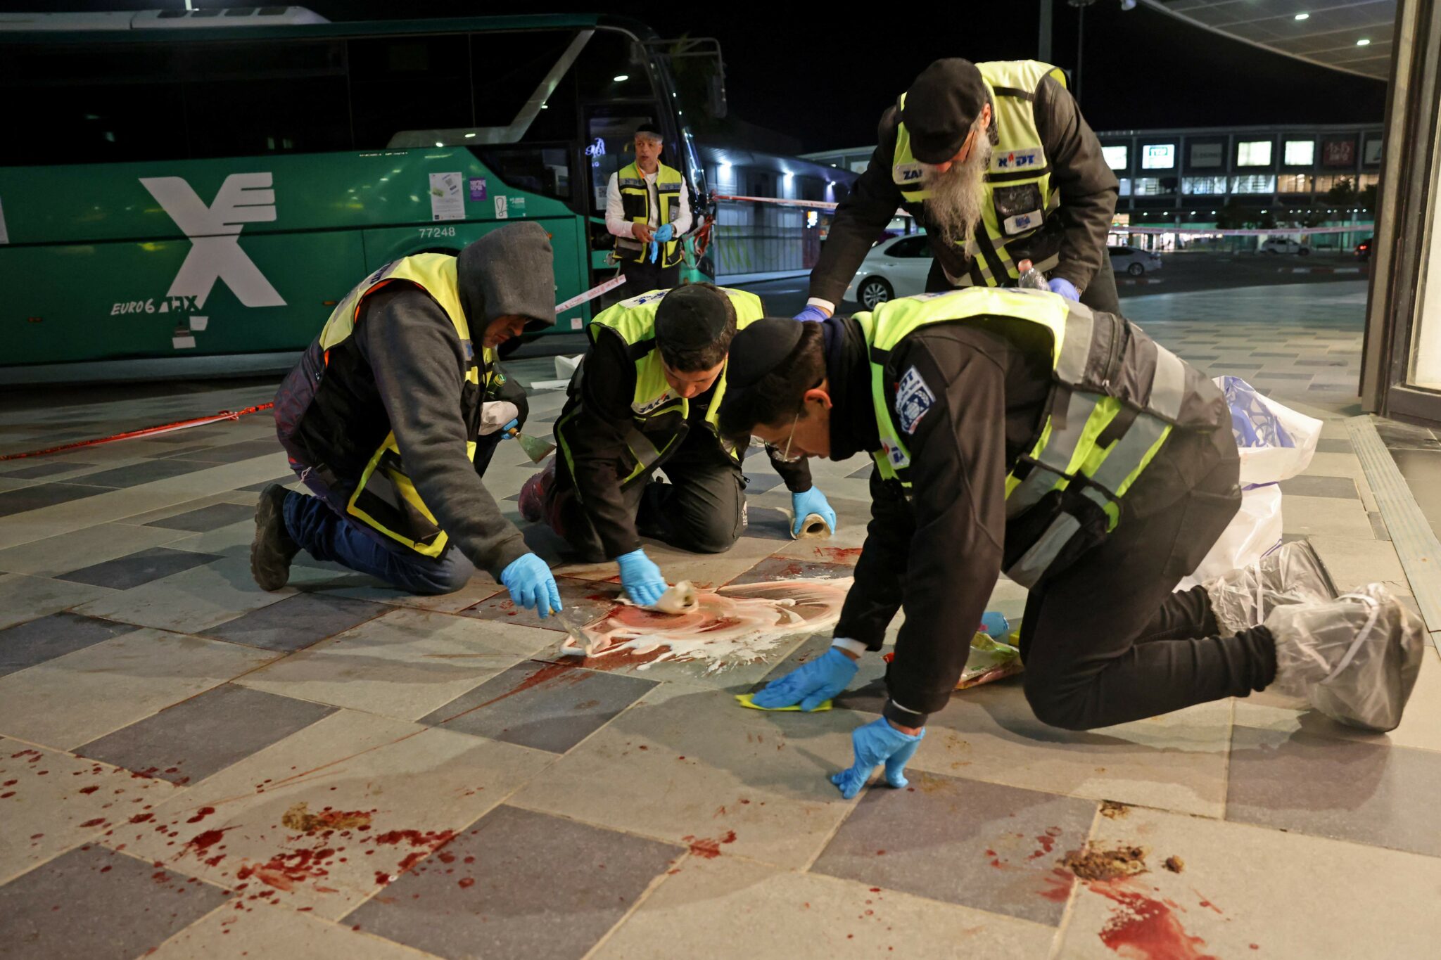
[[878, 134], [797, 320], [834, 312], [896, 207], [928, 235], [927, 292], [1014, 286], [1029, 259], [1053, 292], [1120, 309], [1105, 243], [1118, 184], [1058, 68], [937, 60], [880, 115]]

